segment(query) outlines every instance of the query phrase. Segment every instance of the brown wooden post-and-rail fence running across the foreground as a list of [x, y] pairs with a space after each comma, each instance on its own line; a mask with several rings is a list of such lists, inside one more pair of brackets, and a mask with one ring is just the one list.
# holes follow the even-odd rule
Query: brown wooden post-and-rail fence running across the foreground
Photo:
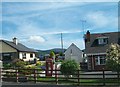
[[52, 76], [46, 76], [41, 69], [5, 69], [2, 68], [2, 81], [6, 82], [34, 82], [64, 85], [119, 85], [120, 73], [106, 70], [85, 72], [77, 70], [76, 74], [67, 79], [60, 70], [53, 70]]

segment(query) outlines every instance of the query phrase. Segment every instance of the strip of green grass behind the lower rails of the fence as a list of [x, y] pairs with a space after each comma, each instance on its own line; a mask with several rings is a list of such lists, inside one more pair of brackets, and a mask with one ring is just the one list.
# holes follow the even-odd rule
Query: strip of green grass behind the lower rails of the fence
[[[37, 78], [38, 82], [41, 81], [49, 81], [49, 83], [55, 83], [56, 79], [55, 77], [39, 77]], [[103, 85], [103, 83], [106, 82], [106, 84], [119, 84], [120, 85], [120, 81], [118, 82], [118, 79], [106, 79], [106, 80], [102, 80], [102, 79], [80, 79], [79, 83], [77, 79], [68, 79], [66, 80], [66, 78], [58, 78], [58, 84], [65, 84], [65, 85]]]

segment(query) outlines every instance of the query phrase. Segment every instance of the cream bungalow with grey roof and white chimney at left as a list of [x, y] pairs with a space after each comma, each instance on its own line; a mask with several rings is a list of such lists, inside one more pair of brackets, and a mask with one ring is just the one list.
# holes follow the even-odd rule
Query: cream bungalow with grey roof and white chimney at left
[[33, 61], [36, 51], [19, 43], [17, 38], [13, 41], [0, 40], [0, 60], [3, 62], [11, 62], [14, 59], [22, 59], [24, 61]]

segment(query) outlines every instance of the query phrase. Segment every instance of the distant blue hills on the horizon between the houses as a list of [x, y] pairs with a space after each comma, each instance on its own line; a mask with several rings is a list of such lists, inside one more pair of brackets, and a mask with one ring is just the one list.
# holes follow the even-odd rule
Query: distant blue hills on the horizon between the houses
[[[54, 48], [54, 49], [49, 49], [49, 50], [37, 50], [39, 54], [49, 54], [50, 51], [54, 51], [55, 53], [60, 53], [62, 52], [62, 49], [61, 48]], [[66, 49], [63, 49], [63, 51], [65, 52]]]

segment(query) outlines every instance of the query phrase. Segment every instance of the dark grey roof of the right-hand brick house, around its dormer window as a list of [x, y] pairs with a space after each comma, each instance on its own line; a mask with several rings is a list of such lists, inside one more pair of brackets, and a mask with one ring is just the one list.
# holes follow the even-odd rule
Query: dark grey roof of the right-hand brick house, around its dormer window
[[[97, 45], [97, 39], [100, 37], [107, 37], [108, 43], [104, 45]], [[120, 44], [120, 32], [90, 34], [90, 42], [86, 42], [85, 44], [85, 53], [106, 53], [106, 50], [109, 48], [111, 43]]]

